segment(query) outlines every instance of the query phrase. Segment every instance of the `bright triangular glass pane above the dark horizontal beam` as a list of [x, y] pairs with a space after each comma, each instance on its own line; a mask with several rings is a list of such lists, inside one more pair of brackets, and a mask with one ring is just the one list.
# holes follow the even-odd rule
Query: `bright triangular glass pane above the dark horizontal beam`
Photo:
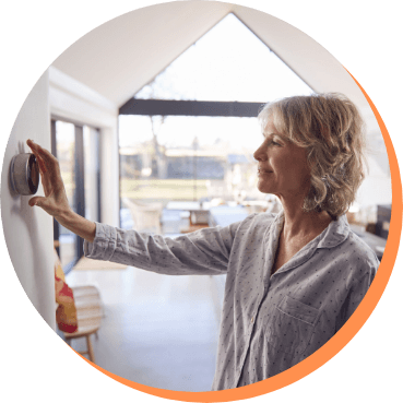
[[311, 93], [265, 44], [228, 14], [134, 97], [268, 103]]

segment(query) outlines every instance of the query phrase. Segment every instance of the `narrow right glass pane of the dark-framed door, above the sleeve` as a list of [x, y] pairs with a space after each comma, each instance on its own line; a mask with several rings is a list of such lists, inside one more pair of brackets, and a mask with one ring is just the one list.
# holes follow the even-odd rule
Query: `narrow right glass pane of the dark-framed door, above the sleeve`
[[84, 126], [85, 218], [98, 221], [98, 131]]

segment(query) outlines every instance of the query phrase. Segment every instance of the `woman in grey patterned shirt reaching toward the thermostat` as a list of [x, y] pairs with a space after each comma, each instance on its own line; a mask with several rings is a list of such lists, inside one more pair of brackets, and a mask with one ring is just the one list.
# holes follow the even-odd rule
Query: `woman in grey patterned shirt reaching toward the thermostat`
[[379, 261], [345, 213], [364, 178], [363, 122], [341, 95], [268, 104], [260, 112], [258, 188], [283, 210], [176, 239], [92, 223], [71, 211], [57, 159], [28, 141], [45, 198], [38, 205], [85, 239], [85, 256], [164, 274], [227, 274], [213, 390], [272, 377], [346, 322]]

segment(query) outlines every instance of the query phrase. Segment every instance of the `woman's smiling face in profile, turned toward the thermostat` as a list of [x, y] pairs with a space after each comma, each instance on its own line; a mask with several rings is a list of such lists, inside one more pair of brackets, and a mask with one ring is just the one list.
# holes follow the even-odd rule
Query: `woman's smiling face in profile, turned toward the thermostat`
[[268, 121], [264, 140], [254, 152], [259, 162], [258, 189], [280, 199], [305, 197], [310, 188], [310, 169], [306, 150], [292, 143]]

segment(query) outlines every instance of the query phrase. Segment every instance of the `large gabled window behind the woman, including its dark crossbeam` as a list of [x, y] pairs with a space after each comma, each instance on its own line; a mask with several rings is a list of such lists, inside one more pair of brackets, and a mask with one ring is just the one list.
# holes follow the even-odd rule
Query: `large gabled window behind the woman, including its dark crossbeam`
[[262, 139], [256, 116], [270, 100], [312, 93], [227, 15], [120, 108], [121, 226], [133, 224], [128, 199], [161, 203], [163, 224], [171, 201], [264, 199], [252, 156]]

